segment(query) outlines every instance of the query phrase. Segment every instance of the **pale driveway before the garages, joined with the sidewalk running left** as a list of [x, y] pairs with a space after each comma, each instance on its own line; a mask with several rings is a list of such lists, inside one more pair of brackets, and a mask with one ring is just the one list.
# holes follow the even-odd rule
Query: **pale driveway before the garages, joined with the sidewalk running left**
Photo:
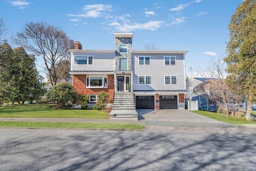
[[[73, 122], [73, 123], [123, 123], [145, 125], [150, 132], [207, 132], [207, 133], [256, 133], [256, 124], [228, 124], [188, 110], [137, 110], [139, 121], [87, 118], [51, 118], [51, 117], [0, 117], [0, 121], [31, 122]], [[250, 130], [246, 130], [246, 128]]]

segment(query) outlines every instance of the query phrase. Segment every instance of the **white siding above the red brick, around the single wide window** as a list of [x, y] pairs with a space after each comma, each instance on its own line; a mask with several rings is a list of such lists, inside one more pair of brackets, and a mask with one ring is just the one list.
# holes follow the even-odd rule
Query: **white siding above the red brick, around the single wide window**
[[[93, 64], [74, 64], [74, 56], [93, 56]], [[71, 71], [113, 71], [115, 70], [115, 53], [73, 53]]]

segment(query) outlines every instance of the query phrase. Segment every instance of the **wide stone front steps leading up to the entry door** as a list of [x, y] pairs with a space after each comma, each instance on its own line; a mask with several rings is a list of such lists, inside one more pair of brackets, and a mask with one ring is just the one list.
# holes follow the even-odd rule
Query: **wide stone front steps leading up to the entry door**
[[110, 119], [138, 120], [132, 92], [115, 92], [112, 108], [113, 110], [109, 113]]

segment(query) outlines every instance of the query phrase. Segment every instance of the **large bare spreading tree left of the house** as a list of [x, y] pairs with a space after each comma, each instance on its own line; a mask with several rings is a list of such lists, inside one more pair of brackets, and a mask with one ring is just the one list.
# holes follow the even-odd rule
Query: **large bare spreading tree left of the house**
[[17, 32], [13, 42], [34, 52], [36, 56], [42, 56], [45, 64], [43, 68], [52, 85], [56, 85], [64, 66], [70, 64], [68, 50], [74, 48], [74, 40], [66, 36], [62, 29], [45, 22], [26, 23], [23, 30]]

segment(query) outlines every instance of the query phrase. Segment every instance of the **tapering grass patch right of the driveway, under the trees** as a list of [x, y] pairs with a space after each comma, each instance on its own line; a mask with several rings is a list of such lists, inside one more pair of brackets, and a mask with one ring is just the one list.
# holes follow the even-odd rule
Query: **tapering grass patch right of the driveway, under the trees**
[[233, 124], [256, 124], [256, 122], [248, 121], [244, 117], [229, 117], [223, 113], [214, 113], [210, 111], [203, 111], [203, 110], [198, 110], [198, 111], [192, 111], [194, 113], [210, 117], [212, 119], [216, 119], [218, 121], [226, 122], [226, 123], [233, 123]]

